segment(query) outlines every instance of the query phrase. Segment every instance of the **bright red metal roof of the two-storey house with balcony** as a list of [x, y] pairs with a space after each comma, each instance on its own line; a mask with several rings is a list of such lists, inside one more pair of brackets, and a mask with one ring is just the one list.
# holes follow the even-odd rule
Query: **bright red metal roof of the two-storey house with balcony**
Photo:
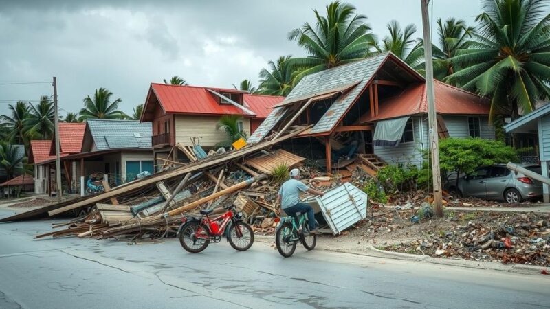
[[[248, 115], [240, 108], [231, 104], [220, 104], [219, 98], [210, 93], [208, 89], [216, 92], [243, 93], [243, 100], [257, 115]], [[245, 117], [265, 118], [274, 104], [284, 98], [270, 95], [251, 95], [246, 91], [235, 89], [223, 89], [212, 87], [179, 86], [170, 84], [151, 83], [146, 108], [155, 95], [165, 113], [195, 114], [195, 115], [242, 115]]]

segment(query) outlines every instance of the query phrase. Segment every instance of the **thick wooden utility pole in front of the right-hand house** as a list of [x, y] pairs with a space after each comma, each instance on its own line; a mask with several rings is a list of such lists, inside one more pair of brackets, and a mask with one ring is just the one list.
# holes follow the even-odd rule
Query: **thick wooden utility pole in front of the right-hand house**
[[[435, 111], [434, 71], [432, 63], [432, 40], [428, 20], [428, 1], [420, 0], [422, 6], [422, 30], [424, 34], [424, 58], [426, 58], [426, 97], [428, 99], [428, 126], [430, 128], [430, 152], [432, 153], [432, 178], [434, 184], [434, 208], [438, 217], [443, 217], [441, 197], [441, 171], [439, 170], [439, 136]], [[433, 12], [432, 12], [433, 14]]]

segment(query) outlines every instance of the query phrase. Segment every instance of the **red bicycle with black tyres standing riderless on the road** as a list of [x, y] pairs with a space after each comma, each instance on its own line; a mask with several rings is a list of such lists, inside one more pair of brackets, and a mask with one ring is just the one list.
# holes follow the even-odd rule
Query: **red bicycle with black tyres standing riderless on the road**
[[201, 210], [202, 216], [187, 216], [181, 219], [177, 231], [179, 243], [190, 253], [199, 253], [208, 247], [210, 241], [220, 242], [225, 237], [235, 250], [246, 251], [254, 243], [252, 227], [242, 221], [243, 214], [233, 205], [224, 207], [225, 214], [210, 220], [213, 209]]

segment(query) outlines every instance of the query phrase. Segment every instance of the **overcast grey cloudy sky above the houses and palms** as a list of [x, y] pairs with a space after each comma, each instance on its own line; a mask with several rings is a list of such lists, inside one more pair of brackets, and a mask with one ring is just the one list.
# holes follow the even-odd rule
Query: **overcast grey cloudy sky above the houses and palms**
[[[368, 17], [373, 32], [386, 24], [414, 23], [421, 36], [419, 0], [349, 1]], [[231, 87], [278, 56], [304, 55], [287, 33], [313, 8], [329, 1], [27, 1], [0, 0], [0, 113], [12, 100], [52, 95], [57, 76], [61, 115], [78, 112], [94, 89], [106, 87], [131, 113], [151, 82], [179, 75], [190, 84]], [[434, 0], [434, 21], [454, 16], [474, 24], [478, 0]], [[3, 84], [2, 84], [3, 83]]]

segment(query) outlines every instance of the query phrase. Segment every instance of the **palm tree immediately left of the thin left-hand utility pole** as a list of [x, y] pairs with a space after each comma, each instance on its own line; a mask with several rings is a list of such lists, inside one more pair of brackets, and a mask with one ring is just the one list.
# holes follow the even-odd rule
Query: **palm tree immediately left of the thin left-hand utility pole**
[[54, 102], [43, 95], [39, 104], [30, 104], [28, 119], [25, 119], [25, 131], [31, 139], [49, 139], [54, 133]]

